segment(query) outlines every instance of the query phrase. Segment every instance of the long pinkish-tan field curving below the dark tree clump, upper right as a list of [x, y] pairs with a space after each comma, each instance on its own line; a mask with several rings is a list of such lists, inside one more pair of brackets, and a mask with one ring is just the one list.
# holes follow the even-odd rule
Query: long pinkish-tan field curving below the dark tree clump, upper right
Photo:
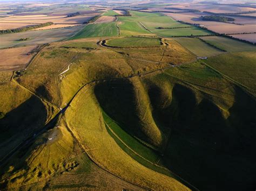
[[[198, 13], [165, 13], [176, 20], [183, 20], [187, 23], [205, 25], [207, 29], [218, 33], [243, 33], [243, 32], [256, 32], [255, 24], [235, 25], [230, 23], [211, 22], [201, 20]], [[250, 19], [250, 22], [252, 19]]]

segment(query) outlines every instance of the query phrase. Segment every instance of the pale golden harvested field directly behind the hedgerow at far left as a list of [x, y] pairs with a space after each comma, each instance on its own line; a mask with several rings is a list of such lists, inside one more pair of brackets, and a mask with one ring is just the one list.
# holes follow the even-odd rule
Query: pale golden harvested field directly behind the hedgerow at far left
[[83, 24], [91, 17], [98, 15], [98, 13], [93, 13], [89, 15], [79, 15], [76, 17], [65, 17], [65, 16], [14, 16], [14, 17], [6, 17], [0, 19], [0, 23], [47, 23], [53, 22], [55, 24]]

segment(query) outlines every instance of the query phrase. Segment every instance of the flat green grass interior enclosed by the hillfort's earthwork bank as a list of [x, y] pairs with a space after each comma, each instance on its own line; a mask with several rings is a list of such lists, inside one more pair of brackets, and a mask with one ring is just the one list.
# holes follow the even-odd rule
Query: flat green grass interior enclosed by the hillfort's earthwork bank
[[160, 46], [163, 43], [160, 38], [146, 37], [124, 37], [107, 40], [105, 45], [112, 47], [145, 47], [145, 46]]

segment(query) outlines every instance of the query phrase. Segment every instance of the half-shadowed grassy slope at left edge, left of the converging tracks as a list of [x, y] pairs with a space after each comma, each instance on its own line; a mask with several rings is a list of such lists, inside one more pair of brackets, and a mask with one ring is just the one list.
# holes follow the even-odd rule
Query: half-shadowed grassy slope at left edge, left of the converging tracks
[[[3, 73], [5, 73], [3, 75]], [[12, 73], [0, 72], [1, 158], [42, 129], [56, 108], [11, 80]]]

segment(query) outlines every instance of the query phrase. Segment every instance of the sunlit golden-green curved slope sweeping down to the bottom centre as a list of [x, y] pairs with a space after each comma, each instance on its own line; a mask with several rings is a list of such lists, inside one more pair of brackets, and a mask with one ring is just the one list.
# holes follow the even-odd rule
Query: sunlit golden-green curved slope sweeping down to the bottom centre
[[[91, 110], [87, 110], [87, 107]], [[74, 109], [78, 111], [76, 115]], [[90, 157], [114, 174], [152, 189], [186, 190], [174, 179], [140, 165], [118, 146], [105, 128], [100, 108], [91, 89], [86, 88], [79, 92], [66, 112], [66, 119], [80, 143], [90, 148]], [[84, 123], [86, 126], [82, 128], [81, 124]]]

